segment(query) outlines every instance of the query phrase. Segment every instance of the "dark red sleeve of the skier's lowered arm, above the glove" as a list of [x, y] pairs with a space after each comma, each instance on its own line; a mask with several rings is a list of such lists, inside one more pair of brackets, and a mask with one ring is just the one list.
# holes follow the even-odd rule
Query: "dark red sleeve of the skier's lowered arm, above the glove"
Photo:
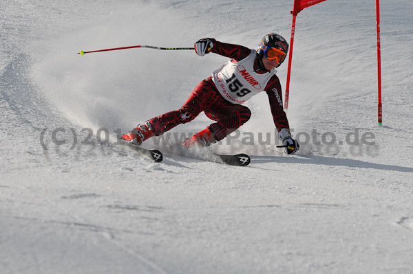
[[281, 84], [279, 83], [279, 79], [276, 75], [271, 77], [268, 81], [265, 91], [268, 95], [268, 100], [270, 101], [271, 114], [273, 115], [275, 127], [278, 131], [282, 130], [282, 128], [289, 130], [290, 126], [282, 104]]

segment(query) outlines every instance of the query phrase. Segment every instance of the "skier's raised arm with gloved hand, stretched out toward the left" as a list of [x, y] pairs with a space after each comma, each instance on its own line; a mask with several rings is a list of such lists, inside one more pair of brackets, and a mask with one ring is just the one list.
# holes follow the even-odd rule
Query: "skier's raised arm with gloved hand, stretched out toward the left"
[[214, 38], [202, 38], [195, 42], [195, 52], [200, 56], [213, 52], [239, 61], [249, 56], [251, 49], [242, 45], [222, 43]]

